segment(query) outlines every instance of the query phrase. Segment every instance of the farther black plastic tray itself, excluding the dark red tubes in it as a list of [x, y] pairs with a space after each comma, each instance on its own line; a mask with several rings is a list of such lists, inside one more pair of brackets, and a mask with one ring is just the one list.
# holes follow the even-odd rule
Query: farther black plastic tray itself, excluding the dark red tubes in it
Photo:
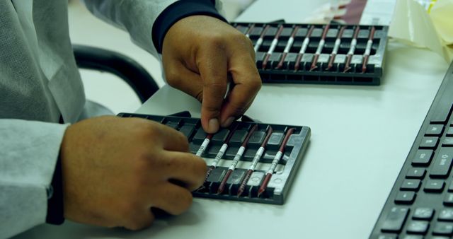
[[[265, 26], [270, 25], [270, 28], [268, 28], [265, 33], [263, 44], [258, 49], [258, 52], [256, 52], [256, 66], [258, 67], [263, 83], [318, 83], [369, 86], [378, 86], [380, 84], [382, 68], [384, 65], [384, 53], [388, 41], [388, 26], [345, 25], [346, 28], [341, 35], [341, 43], [338, 49], [338, 54], [333, 62], [333, 67], [326, 70], [332, 49], [338, 37], [338, 33], [340, 32], [340, 28], [343, 26], [334, 24], [329, 25], [325, 39], [326, 43], [321, 54], [319, 55], [317, 64], [318, 67], [314, 71], [310, 71], [310, 66], [312, 60], [314, 59], [314, 53], [316, 52], [321, 40], [321, 35], [323, 34], [323, 29], [326, 28], [326, 25], [294, 23], [231, 23], [231, 25], [244, 34], [247, 33], [248, 28], [252, 24], [254, 26], [249, 34], [249, 37], [253, 42], [253, 46], [256, 45], [256, 42]], [[275, 47], [273, 54], [269, 57], [266, 69], [262, 69], [265, 54], [268, 52], [271, 42], [273, 41], [280, 25], [283, 25], [283, 30], [277, 47]], [[280, 62], [282, 52], [285, 49], [289, 37], [296, 26], [299, 26], [299, 30], [294, 37], [294, 43], [292, 44], [287, 57], [285, 57], [284, 65], [282, 68], [276, 69], [278, 62]], [[294, 71], [297, 54], [299, 53], [299, 49], [302, 47], [302, 42], [304, 41], [311, 26], [314, 26], [314, 30], [309, 37], [309, 45], [300, 61], [301, 65], [299, 70]], [[355, 53], [352, 55], [350, 62], [352, 69], [347, 72], [343, 72], [345, 69], [346, 55], [350, 49], [350, 42], [356, 27], [359, 27], [360, 30], [357, 35]], [[362, 73], [362, 63], [364, 59], [363, 54], [365, 53], [369, 33], [372, 27], [375, 28], [372, 49], [366, 66], [367, 70], [365, 73]]]

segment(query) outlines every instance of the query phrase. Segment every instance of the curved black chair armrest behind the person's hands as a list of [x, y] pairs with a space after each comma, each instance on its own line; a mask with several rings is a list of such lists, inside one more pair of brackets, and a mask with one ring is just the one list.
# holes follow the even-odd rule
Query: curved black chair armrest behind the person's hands
[[106, 71], [122, 78], [144, 103], [157, 90], [156, 81], [130, 57], [98, 47], [72, 45], [77, 66], [81, 69]]

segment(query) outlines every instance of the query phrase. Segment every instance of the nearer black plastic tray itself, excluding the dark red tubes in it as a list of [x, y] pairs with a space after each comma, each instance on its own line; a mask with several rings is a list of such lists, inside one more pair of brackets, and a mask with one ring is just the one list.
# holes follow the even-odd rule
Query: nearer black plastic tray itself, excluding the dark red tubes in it
[[[144, 119], [150, 119], [155, 122], [161, 122], [166, 124], [168, 127], [182, 132], [188, 137], [190, 151], [196, 153], [200, 148], [202, 142], [205, 140], [207, 134], [201, 127], [200, 119], [191, 117], [172, 117], [172, 116], [158, 116], [158, 115], [138, 115], [130, 113], [120, 113], [120, 117], [140, 117]], [[302, 156], [306, 150], [306, 146], [309, 144], [310, 128], [306, 126], [288, 126], [281, 124], [263, 124], [256, 122], [234, 122], [229, 129], [221, 129], [219, 132], [212, 136], [212, 140], [208, 145], [205, 153], [202, 154], [202, 158], [205, 159], [207, 166], [209, 167], [215, 158], [219, 148], [222, 146], [224, 139], [229, 133], [232, 127], [236, 127], [235, 124], [239, 124], [236, 128], [229, 148], [226, 150], [222, 160], [220, 161], [217, 168], [212, 170], [209, 177], [205, 181], [205, 184], [193, 192], [194, 197], [204, 197], [212, 199], [224, 199], [244, 202], [258, 202], [264, 204], [284, 204], [285, 199], [288, 197], [289, 190], [294, 180], [294, 176], [297, 173], [299, 165], [302, 161]], [[236, 170], [231, 173], [229, 180], [226, 181], [226, 187], [222, 194], [217, 194], [220, 182], [229, 165], [231, 164], [236, 152], [242, 144], [242, 141], [246, 137], [246, 134], [251, 127], [258, 124], [258, 129], [254, 132], [248, 141], [246, 151], [243, 153], [241, 161], [236, 166]], [[258, 163], [258, 167], [253, 172], [250, 180], [247, 182], [246, 190], [243, 192], [241, 197], [237, 196], [239, 185], [243, 177], [246, 175], [253, 156], [260, 147], [265, 137], [265, 132], [268, 127], [273, 127], [273, 134], [271, 134], [268, 141], [268, 145], [265, 148], [263, 156]], [[258, 189], [263, 182], [265, 173], [267, 172], [274, 156], [276, 155], [280, 144], [282, 143], [283, 137], [287, 129], [294, 128], [293, 134], [289, 137], [287, 145], [285, 146], [285, 153], [280, 159], [275, 172], [273, 173], [268, 187], [263, 194], [258, 197]]]

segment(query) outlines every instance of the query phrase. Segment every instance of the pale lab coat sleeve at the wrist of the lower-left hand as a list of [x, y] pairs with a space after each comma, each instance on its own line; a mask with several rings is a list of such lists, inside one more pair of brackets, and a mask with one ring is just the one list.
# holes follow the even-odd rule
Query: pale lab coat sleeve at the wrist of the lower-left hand
[[0, 119], [0, 238], [45, 223], [67, 124]]

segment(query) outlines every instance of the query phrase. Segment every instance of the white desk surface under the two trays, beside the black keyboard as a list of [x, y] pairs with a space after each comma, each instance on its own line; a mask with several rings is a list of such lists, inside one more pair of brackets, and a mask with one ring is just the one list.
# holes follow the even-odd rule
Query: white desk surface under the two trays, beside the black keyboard
[[[256, 18], [261, 2], [239, 19]], [[282, 206], [194, 199], [185, 214], [139, 232], [66, 222], [17, 238], [368, 238], [447, 66], [432, 52], [389, 42], [381, 86], [263, 86], [246, 115], [312, 130]], [[165, 86], [137, 112], [182, 110], [200, 116], [196, 100]]]

